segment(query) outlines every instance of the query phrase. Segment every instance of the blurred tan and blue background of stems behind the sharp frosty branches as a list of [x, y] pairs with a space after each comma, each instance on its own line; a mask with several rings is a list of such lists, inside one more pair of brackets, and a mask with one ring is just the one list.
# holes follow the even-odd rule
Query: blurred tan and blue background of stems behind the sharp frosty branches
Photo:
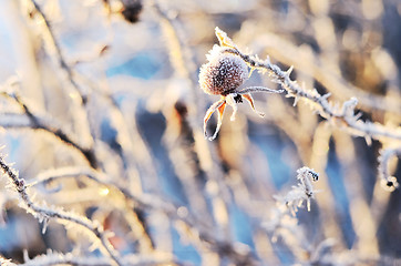
[[[370, 142], [307, 102], [255, 93], [266, 116], [239, 104], [230, 122], [227, 109], [208, 142], [203, 117], [218, 96], [197, 81], [218, 27], [241, 51], [269, 55], [282, 70], [294, 65], [294, 80], [330, 92], [333, 104], [356, 96], [362, 121], [400, 126], [400, 1], [0, 7], [1, 153], [32, 184], [38, 204], [97, 221], [114, 233], [113, 248], [138, 265], [401, 264], [401, 194], [378, 178], [380, 151], [399, 149], [400, 140]], [[279, 89], [257, 71], [244, 85]], [[215, 126], [212, 117], [209, 134]], [[304, 204], [292, 214], [274, 195], [297, 185], [302, 166], [320, 174], [319, 192], [310, 212]], [[400, 156], [388, 166], [400, 178]], [[51, 219], [42, 234], [44, 225], [7, 184], [4, 175], [1, 256], [22, 264], [24, 253], [44, 254], [31, 265], [54, 265], [49, 250], [104, 256], [78, 226]]]

